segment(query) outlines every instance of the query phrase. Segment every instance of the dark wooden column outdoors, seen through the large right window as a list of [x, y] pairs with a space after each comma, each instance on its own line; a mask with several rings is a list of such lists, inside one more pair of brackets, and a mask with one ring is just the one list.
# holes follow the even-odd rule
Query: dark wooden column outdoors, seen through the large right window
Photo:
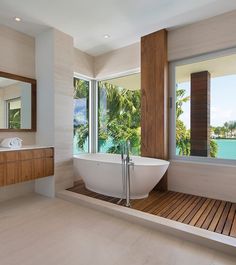
[[210, 155], [210, 73], [191, 74], [191, 155]]

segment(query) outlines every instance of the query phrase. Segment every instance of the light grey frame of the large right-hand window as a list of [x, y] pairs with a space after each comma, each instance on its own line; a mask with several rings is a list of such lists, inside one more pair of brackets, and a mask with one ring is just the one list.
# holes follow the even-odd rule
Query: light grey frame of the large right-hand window
[[169, 73], [170, 73], [170, 121], [169, 121], [169, 153], [170, 159], [183, 162], [196, 162], [196, 163], [207, 163], [207, 164], [228, 164], [235, 165], [235, 159], [224, 159], [224, 158], [212, 158], [212, 157], [200, 157], [200, 156], [179, 156], [176, 155], [176, 76], [175, 69], [177, 66], [192, 64], [197, 62], [202, 62], [210, 59], [216, 59], [223, 56], [229, 56], [236, 54], [236, 47], [220, 50], [216, 52], [210, 52], [203, 55], [198, 55], [190, 58], [180, 59], [169, 64]]

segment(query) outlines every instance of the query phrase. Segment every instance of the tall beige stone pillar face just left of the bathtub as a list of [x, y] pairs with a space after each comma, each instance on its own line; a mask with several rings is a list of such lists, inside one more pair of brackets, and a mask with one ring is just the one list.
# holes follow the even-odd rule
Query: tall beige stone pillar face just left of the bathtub
[[[66, 55], [66, 56], [65, 56]], [[73, 185], [73, 38], [54, 31], [54, 126], [56, 190]]]

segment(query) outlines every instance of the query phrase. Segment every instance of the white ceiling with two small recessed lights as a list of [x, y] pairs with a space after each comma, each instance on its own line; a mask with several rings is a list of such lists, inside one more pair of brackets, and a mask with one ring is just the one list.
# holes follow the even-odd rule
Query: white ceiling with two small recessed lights
[[[53, 27], [91, 55], [138, 42], [173, 28], [236, 9], [235, 0], [0, 0], [0, 24], [36, 36]], [[17, 23], [13, 17], [19, 16]], [[104, 34], [111, 38], [104, 39]]]

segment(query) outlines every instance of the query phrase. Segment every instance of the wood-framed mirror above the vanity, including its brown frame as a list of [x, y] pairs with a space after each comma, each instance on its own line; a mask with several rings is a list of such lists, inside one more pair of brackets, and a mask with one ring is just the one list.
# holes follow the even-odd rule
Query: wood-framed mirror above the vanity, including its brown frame
[[0, 71], [0, 132], [36, 131], [36, 80]]

